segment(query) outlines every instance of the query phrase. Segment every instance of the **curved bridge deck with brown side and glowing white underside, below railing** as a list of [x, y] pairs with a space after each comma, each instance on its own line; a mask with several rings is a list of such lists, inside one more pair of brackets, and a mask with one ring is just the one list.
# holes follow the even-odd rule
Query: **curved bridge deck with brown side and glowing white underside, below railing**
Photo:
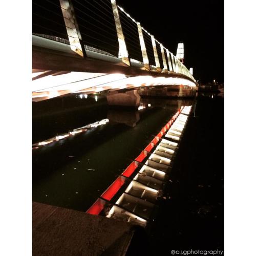
[[127, 66], [118, 58], [90, 51], [86, 58], [82, 58], [59, 42], [53, 45], [53, 41], [50, 44], [44, 41], [44, 44], [33, 44], [33, 101], [70, 93], [93, 94], [145, 86], [196, 86], [183, 74], [149, 71], [139, 63]]

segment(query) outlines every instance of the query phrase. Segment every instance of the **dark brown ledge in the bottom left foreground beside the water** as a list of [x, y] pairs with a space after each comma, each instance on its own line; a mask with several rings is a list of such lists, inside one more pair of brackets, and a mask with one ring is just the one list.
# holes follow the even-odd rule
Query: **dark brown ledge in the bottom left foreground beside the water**
[[33, 202], [36, 256], [125, 255], [134, 235], [126, 222]]

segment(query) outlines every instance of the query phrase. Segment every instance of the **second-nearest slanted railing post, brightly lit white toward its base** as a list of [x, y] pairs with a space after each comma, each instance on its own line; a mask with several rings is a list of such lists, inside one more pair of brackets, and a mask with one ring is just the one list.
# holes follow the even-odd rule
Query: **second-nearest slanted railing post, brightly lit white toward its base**
[[118, 52], [118, 58], [121, 58], [122, 61], [128, 65], [131, 66], [128, 52], [126, 49], [126, 44], [124, 40], [124, 35], [122, 31], [122, 26], [119, 18], [119, 13], [118, 13], [118, 8], [116, 5], [116, 0], [111, 0], [111, 5], [112, 5], [112, 10], [114, 13], [114, 19], [115, 19], [115, 24], [116, 24], [116, 32], [117, 32], [117, 38], [118, 38], [118, 44], [119, 44], [119, 52]]

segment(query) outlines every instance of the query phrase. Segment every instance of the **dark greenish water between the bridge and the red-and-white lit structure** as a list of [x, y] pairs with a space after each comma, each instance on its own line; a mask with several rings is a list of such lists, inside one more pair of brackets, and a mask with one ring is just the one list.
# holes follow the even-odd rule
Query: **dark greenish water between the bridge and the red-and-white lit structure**
[[108, 118], [87, 132], [33, 150], [33, 201], [86, 211], [181, 105], [141, 99], [142, 110], [114, 110], [104, 97], [66, 97], [33, 105], [33, 143]]

